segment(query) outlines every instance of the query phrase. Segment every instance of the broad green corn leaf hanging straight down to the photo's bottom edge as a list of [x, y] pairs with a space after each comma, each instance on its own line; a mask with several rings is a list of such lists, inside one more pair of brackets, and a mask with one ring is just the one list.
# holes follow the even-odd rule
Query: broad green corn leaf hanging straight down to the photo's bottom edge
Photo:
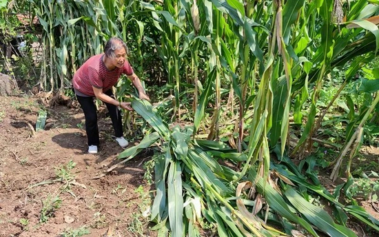
[[168, 218], [172, 236], [183, 236], [182, 170], [178, 161], [171, 163], [167, 176]]

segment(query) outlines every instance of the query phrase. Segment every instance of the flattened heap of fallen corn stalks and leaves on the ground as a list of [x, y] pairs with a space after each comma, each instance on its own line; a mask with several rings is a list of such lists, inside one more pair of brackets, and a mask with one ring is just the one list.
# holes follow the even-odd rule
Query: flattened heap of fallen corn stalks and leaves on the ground
[[[207, 227], [213, 225], [218, 236], [296, 236], [299, 228], [312, 236], [318, 236], [317, 231], [330, 236], [356, 236], [345, 227], [347, 214], [379, 230], [378, 220], [361, 207], [338, 203], [340, 189], [333, 196], [319, 182], [317, 185], [308, 183], [309, 177], [300, 174], [301, 168], [299, 170], [287, 156], [281, 156], [279, 147], [275, 151], [282, 163], [272, 163], [267, 178], [258, 174], [263, 170], [256, 166], [246, 173], [236, 172], [217, 159], [221, 158], [225, 164], [236, 164], [246, 161], [247, 154], [236, 152], [225, 143], [192, 138], [192, 126], [169, 128], [148, 101], [133, 99], [132, 106], [155, 132], [147, 134], [139, 145], [122, 152], [119, 158], [128, 160], [143, 148], [158, 143], [161, 156], [155, 161], [156, 194], [151, 218], [157, 223], [154, 229], [160, 234], [201, 236], [201, 231], [212, 231]], [[314, 167], [310, 166], [309, 171], [311, 174]], [[275, 183], [271, 176], [280, 181]], [[270, 185], [265, 184], [267, 181]], [[314, 182], [317, 183], [317, 179]], [[263, 196], [267, 204], [258, 199], [253, 201], [254, 195]], [[340, 218], [333, 219], [311, 204], [310, 195], [326, 198]], [[277, 215], [283, 218], [278, 219]], [[269, 223], [275, 223], [280, 229]]]

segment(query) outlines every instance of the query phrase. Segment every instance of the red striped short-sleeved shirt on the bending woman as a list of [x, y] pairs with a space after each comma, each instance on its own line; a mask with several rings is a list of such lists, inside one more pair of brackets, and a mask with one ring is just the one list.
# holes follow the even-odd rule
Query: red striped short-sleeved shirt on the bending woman
[[104, 54], [97, 54], [90, 57], [74, 74], [72, 84], [75, 90], [88, 95], [94, 96], [94, 90], [96, 87], [103, 89], [103, 92], [110, 90], [112, 86], [116, 85], [121, 74], [132, 75], [133, 69], [128, 61], [125, 61], [123, 68], [115, 68], [114, 70], [108, 70], [103, 62]]

